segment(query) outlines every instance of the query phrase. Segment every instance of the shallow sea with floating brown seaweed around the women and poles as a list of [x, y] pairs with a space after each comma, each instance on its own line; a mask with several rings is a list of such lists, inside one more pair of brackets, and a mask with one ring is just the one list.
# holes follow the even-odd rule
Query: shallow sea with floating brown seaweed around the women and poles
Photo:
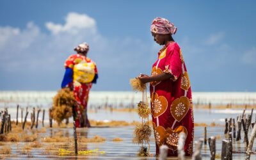
[[[74, 137], [72, 118], [69, 124], [65, 122], [58, 127], [56, 122], [52, 128], [49, 127], [48, 109], [51, 107], [52, 97], [56, 92], [0, 92], [0, 111], [8, 108], [11, 115], [13, 130], [10, 133], [0, 134], [0, 158], [6, 159], [156, 159], [154, 156], [156, 146], [154, 134], [150, 138], [150, 157], [137, 156], [140, 146], [132, 143], [133, 131], [136, 127], [131, 122], [139, 121], [140, 118], [131, 108], [140, 101], [141, 95], [134, 92], [92, 92], [90, 94], [88, 118], [99, 124], [91, 128], [77, 128], [78, 156], [74, 156]], [[222, 140], [228, 140], [225, 131], [225, 118], [237, 118], [243, 114], [243, 108], [214, 108], [220, 104], [239, 104], [242, 106], [255, 104], [255, 93], [198, 93], [193, 97], [200, 99], [198, 104], [212, 104], [212, 108], [194, 108], [195, 118], [195, 140], [204, 138], [204, 126], [207, 125], [207, 138], [216, 137], [216, 159], [221, 157]], [[195, 96], [196, 95], [196, 96]], [[211, 95], [212, 100], [211, 100]], [[36, 99], [36, 100], [35, 100]], [[197, 99], [197, 100], [198, 100]], [[193, 99], [194, 103], [196, 98]], [[17, 104], [24, 110], [28, 107], [29, 116], [24, 131], [21, 124], [15, 125]], [[41, 109], [38, 128], [30, 129], [30, 113], [35, 107]], [[126, 108], [126, 109], [125, 109]], [[128, 108], [128, 110], [127, 110]], [[136, 107], [135, 107], [136, 108]], [[45, 109], [44, 127], [42, 126], [42, 109]], [[130, 110], [131, 109], [131, 110]], [[244, 114], [250, 115], [251, 109], [246, 109]], [[23, 115], [24, 120], [25, 113]], [[21, 122], [19, 112], [19, 122]], [[129, 122], [130, 125], [110, 126], [104, 123], [111, 121]], [[151, 120], [151, 118], [150, 118]], [[255, 122], [255, 113], [252, 122]], [[97, 124], [97, 123], [96, 123]], [[119, 123], [121, 124], [121, 123]], [[136, 124], [136, 123], [134, 123]], [[236, 127], [237, 128], [237, 127]], [[252, 132], [250, 126], [248, 136]], [[94, 139], [93, 139], [94, 138]], [[244, 143], [244, 132], [241, 131], [242, 140], [233, 139], [233, 159], [244, 159], [246, 157], [246, 143]], [[195, 145], [195, 143], [194, 143]], [[194, 147], [195, 150], [195, 147]], [[210, 159], [209, 145], [203, 145], [202, 159]], [[169, 159], [177, 159], [170, 157]], [[186, 157], [191, 159], [191, 157]], [[250, 159], [256, 159], [256, 141], [253, 143]]]

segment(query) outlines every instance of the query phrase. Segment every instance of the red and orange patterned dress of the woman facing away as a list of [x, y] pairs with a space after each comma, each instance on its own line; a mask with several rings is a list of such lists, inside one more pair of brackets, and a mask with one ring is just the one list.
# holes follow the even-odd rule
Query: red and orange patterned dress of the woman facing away
[[[79, 63], [93, 63], [95, 66], [95, 75], [97, 75], [98, 72], [95, 63], [90, 60], [90, 58], [80, 54], [69, 56], [65, 61], [65, 68], [68, 67], [74, 70], [74, 66]], [[90, 127], [90, 122], [87, 117], [87, 102], [92, 83], [80, 83], [76, 81], [76, 79], [73, 79], [72, 83], [69, 83], [68, 86], [74, 88], [74, 95], [77, 100], [77, 106], [75, 108], [76, 115], [74, 116], [76, 119], [76, 127]]]

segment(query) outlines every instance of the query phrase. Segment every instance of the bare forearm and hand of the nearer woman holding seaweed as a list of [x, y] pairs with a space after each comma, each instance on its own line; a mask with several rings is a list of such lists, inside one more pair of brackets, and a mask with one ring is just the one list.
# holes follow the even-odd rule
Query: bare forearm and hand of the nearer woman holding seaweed
[[171, 77], [173, 77], [172, 74], [166, 73], [157, 74], [156, 76], [147, 76], [145, 74], [141, 74], [138, 79], [140, 79], [142, 83], [150, 83], [152, 81], [164, 81], [166, 79], [170, 79]]

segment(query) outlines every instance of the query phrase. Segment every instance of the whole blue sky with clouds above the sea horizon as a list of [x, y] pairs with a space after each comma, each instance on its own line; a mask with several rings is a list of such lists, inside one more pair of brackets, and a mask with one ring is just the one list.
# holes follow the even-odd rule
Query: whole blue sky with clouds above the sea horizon
[[97, 63], [92, 90], [131, 90], [150, 74], [155, 17], [177, 26], [193, 91], [256, 91], [256, 1], [0, 0], [0, 90], [58, 90], [81, 43]]

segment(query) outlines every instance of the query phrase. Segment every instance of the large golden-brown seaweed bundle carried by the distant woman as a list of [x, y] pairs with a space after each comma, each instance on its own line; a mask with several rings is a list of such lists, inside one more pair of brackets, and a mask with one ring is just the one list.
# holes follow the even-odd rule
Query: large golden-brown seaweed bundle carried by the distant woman
[[62, 120], [72, 116], [72, 107], [76, 105], [74, 93], [69, 88], [62, 88], [53, 98], [50, 116], [60, 124]]

